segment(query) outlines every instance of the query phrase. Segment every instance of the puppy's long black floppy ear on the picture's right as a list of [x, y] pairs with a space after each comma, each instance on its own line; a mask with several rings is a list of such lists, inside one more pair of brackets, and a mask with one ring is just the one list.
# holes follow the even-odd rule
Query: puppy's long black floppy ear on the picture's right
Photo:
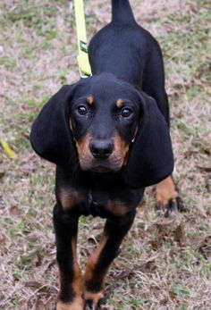
[[125, 169], [125, 180], [131, 188], [156, 184], [173, 172], [172, 143], [165, 118], [152, 97], [143, 92], [139, 96], [139, 131]]

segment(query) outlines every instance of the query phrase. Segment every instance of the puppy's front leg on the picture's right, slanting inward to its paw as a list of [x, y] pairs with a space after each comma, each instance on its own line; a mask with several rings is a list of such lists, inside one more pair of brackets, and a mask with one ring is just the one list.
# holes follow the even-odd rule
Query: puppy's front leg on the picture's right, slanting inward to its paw
[[131, 228], [135, 211], [105, 222], [103, 238], [90, 256], [84, 275], [84, 298], [91, 309], [97, 310], [105, 293], [105, 275], [118, 255], [122, 239]]

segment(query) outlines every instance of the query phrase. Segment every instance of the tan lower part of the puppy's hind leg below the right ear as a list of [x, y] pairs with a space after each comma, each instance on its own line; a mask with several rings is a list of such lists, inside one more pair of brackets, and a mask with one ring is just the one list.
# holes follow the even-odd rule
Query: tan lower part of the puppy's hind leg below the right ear
[[178, 192], [174, 187], [171, 176], [156, 185], [156, 201], [162, 203], [162, 205], [167, 205], [170, 199], [175, 200], [176, 197], [178, 197]]

